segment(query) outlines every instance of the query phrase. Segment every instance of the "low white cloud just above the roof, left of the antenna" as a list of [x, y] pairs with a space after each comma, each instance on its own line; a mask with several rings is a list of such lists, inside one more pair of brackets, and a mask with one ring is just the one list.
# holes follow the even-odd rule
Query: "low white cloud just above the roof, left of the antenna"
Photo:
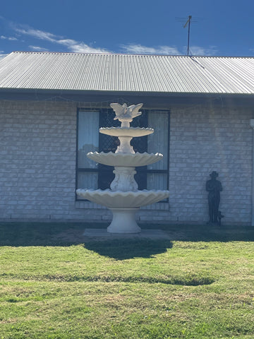
[[179, 49], [171, 46], [147, 47], [142, 44], [122, 44], [121, 48], [124, 52], [133, 54], [164, 54], [179, 55]]

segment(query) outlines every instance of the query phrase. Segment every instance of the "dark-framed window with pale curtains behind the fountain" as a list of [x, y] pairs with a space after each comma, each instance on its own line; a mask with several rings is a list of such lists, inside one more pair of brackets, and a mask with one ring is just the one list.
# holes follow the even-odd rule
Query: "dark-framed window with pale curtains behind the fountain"
[[[169, 187], [169, 112], [142, 110], [143, 114], [131, 122], [132, 127], [152, 127], [155, 133], [133, 138], [135, 152], [162, 153], [163, 159], [155, 164], [136, 167], [138, 189], [168, 189]], [[76, 188], [109, 189], [114, 179], [113, 169], [97, 164], [87, 157], [88, 152], [115, 152], [119, 139], [99, 133], [99, 127], [120, 126], [114, 120], [112, 109], [78, 109]], [[76, 196], [77, 200], [82, 200]]]

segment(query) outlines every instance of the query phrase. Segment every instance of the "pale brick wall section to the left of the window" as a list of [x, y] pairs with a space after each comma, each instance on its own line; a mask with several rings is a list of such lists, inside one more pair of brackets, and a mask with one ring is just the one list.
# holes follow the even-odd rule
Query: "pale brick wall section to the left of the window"
[[[1, 220], [85, 219], [84, 210], [75, 208], [76, 105], [0, 107]], [[90, 211], [89, 219], [100, 219], [98, 214]]]

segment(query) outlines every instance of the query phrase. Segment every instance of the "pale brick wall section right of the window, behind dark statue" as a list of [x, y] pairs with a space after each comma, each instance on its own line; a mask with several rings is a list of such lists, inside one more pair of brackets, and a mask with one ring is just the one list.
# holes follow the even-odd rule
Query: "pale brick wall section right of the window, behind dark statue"
[[252, 112], [243, 109], [172, 109], [170, 215], [180, 222], [208, 219], [205, 182], [219, 172], [224, 223], [251, 220]]

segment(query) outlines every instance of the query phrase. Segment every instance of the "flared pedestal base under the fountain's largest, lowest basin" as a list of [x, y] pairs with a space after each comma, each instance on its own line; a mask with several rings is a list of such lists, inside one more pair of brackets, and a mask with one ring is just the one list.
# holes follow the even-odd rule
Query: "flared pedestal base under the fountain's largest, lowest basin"
[[135, 213], [139, 208], [110, 208], [113, 213], [113, 220], [107, 232], [109, 233], [140, 233], [141, 228], [135, 221]]

